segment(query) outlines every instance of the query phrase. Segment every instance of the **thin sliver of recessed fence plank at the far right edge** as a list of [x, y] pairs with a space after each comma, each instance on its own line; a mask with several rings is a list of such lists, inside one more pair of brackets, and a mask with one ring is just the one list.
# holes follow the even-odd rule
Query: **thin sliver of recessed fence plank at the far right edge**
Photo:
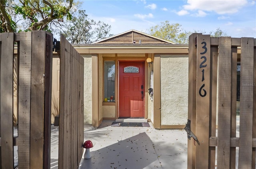
[[[254, 39], [255, 40], [255, 39]], [[253, 124], [252, 124], [252, 138], [256, 138], [256, 42], [254, 41], [254, 59], [253, 59]], [[252, 148], [252, 169], [256, 166], [256, 148]]]

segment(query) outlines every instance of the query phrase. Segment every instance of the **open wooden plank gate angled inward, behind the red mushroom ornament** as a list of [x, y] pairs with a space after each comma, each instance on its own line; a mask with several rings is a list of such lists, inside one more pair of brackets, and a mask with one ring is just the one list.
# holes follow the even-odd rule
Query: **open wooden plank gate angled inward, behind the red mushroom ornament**
[[59, 169], [75, 169], [84, 141], [84, 59], [60, 37]]

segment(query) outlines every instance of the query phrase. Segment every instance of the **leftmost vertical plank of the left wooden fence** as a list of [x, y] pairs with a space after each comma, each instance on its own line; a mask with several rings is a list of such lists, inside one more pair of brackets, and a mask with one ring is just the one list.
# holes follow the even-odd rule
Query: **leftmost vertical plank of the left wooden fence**
[[[12, 169], [13, 159], [13, 53], [14, 33], [1, 33], [1, 168]], [[11, 124], [11, 125], [10, 125]]]

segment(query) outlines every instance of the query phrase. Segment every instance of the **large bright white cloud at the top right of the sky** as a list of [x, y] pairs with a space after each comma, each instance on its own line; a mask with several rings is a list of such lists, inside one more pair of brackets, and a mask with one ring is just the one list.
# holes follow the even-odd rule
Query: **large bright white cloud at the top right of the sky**
[[247, 4], [247, 0], [188, 0], [184, 10], [214, 11], [217, 14], [233, 14]]

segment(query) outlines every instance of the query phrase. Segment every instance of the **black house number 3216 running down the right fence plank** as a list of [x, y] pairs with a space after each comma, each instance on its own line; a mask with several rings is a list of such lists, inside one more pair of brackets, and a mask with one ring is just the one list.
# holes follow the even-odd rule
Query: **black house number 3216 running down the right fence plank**
[[[206, 42], [203, 41], [201, 44], [203, 45], [202, 48], [204, 49], [204, 51], [201, 52], [200, 54], [204, 55], [207, 52]], [[200, 63], [199, 68], [200, 69], [202, 68], [202, 82], [203, 82], [204, 81], [204, 68], [207, 67], [207, 64], [205, 64], [207, 59], [205, 56], [202, 56], [201, 59], [203, 59], [203, 61]], [[200, 87], [199, 94], [201, 97], [206, 96], [206, 90], [204, 90], [204, 84]]]

